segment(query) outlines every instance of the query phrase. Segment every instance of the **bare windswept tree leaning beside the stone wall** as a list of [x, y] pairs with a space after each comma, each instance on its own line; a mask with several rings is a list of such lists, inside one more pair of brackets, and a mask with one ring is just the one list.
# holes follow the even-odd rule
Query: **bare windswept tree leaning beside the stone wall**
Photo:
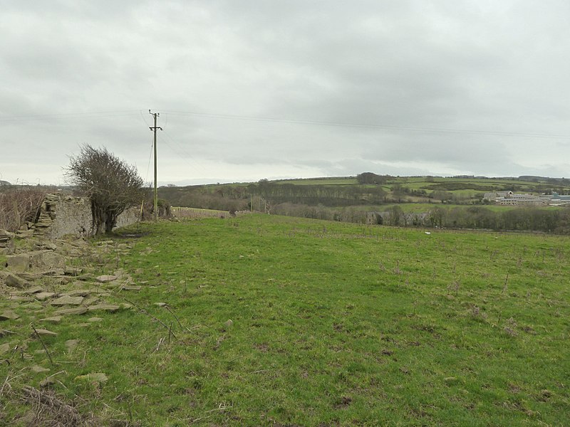
[[110, 233], [125, 209], [145, 199], [136, 167], [105, 148], [83, 145], [78, 156], [70, 158], [66, 176], [89, 197], [95, 234]]

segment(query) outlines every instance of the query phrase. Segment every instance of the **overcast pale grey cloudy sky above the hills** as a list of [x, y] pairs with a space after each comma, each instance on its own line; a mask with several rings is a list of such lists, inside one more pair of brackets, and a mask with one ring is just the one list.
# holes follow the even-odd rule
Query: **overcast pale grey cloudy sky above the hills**
[[0, 0], [0, 179], [570, 176], [567, 0]]

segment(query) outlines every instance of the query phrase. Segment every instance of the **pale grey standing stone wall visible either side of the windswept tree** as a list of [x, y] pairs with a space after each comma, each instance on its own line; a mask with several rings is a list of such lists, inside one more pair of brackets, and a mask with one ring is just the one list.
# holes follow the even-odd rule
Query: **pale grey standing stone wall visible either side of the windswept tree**
[[[117, 227], [128, 226], [139, 220], [139, 209], [131, 208], [120, 214]], [[33, 227], [34, 236], [60, 238], [67, 234], [75, 236], [93, 235], [93, 216], [88, 199], [83, 197], [48, 194], [41, 205], [41, 211]]]

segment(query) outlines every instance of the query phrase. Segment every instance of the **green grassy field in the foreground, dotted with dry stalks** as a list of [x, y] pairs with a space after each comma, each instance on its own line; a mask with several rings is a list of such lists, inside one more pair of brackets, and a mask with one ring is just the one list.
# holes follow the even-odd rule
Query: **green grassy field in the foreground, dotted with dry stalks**
[[[113, 295], [145, 313], [50, 325], [52, 387], [124, 426], [567, 425], [569, 239], [429, 232], [257, 214], [128, 228], [101, 271], [132, 273], [142, 290]], [[28, 335], [21, 315], [5, 328]], [[35, 358], [4, 364], [12, 391], [46, 376]], [[89, 372], [109, 381], [73, 381]], [[4, 419], [25, 410], [6, 396]]]

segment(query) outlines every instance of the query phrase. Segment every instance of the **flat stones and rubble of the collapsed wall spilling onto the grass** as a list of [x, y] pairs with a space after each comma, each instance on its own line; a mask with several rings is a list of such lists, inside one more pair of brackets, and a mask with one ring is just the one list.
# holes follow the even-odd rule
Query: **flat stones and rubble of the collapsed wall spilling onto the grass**
[[[25, 224], [16, 233], [0, 229], [0, 324], [6, 328], [0, 330], [0, 354], [31, 361], [36, 358], [28, 365], [34, 374], [50, 371], [41, 365], [46, 364], [45, 357], [53, 364], [52, 349], [58, 352], [54, 344], [67, 338], [63, 330], [58, 330], [60, 324], [95, 329], [107, 313], [133, 307], [111, 303], [121, 300], [119, 292], [138, 292], [143, 288], [118, 264], [115, 271], [103, 275], [96, 275], [91, 267], [100, 265], [110, 253], [128, 253], [131, 246], [127, 243], [101, 241], [93, 248], [83, 237], [53, 238], [51, 228], [60, 202], [59, 196], [48, 196], [37, 223]], [[113, 297], [115, 300], [111, 300]], [[86, 313], [88, 316], [76, 317]], [[28, 349], [31, 342], [33, 348]], [[43, 348], [37, 347], [40, 342]], [[67, 339], [66, 352], [72, 354], [80, 344], [79, 339]], [[49, 376], [41, 381], [41, 386], [58, 382], [55, 376], [61, 372], [46, 374]], [[108, 377], [93, 372], [77, 376], [76, 380], [104, 383]]]

